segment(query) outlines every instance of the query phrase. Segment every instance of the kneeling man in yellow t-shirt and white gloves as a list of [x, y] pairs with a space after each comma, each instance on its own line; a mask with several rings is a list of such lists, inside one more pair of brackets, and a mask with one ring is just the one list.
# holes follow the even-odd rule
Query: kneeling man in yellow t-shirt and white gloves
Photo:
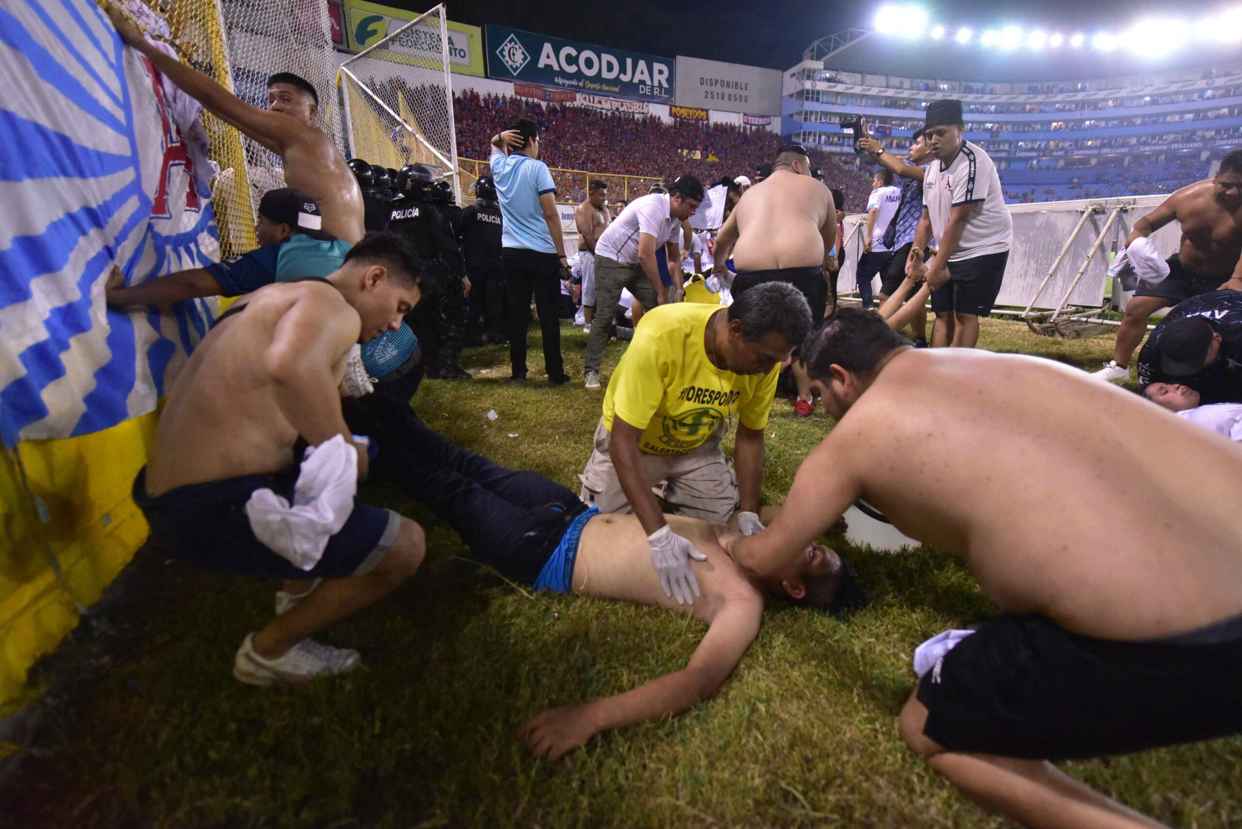
[[[699, 594], [689, 558], [703, 556], [664, 521], [656, 493], [674, 513], [727, 521], [740, 509], [744, 532], [763, 530], [764, 427], [780, 366], [810, 329], [806, 299], [770, 283], [728, 309], [677, 303], [650, 310], [617, 364], [595, 450], [579, 475], [582, 500], [638, 516], [664, 594], [678, 604]], [[720, 449], [734, 415], [737, 474]]]

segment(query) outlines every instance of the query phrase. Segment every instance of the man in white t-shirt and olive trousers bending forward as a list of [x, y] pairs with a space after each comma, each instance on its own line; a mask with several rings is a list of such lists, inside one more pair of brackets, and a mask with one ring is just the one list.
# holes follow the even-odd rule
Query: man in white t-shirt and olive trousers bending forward
[[[595, 243], [595, 316], [586, 336], [587, 388], [600, 387], [600, 360], [609, 341], [609, 326], [616, 315], [621, 289], [655, 308], [677, 302], [682, 290], [681, 235], [682, 222], [694, 215], [702, 204], [703, 185], [694, 176], [682, 176], [668, 192], [653, 192], [631, 201]], [[666, 297], [660, 280], [656, 248], [663, 247], [668, 257], [668, 273], [673, 278], [674, 297]]]

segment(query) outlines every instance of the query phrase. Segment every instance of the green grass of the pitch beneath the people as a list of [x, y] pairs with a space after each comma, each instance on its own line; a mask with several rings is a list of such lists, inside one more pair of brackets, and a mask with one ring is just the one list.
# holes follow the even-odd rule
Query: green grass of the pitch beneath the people
[[[563, 331], [580, 379], [584, 336]], [[505, 351], [478, 349], [466, 357], [473, 381], [426, 382], [414, 406], [457, 443], [576, 489], [601, 395], [580, 380], [548, 387], [537, 334], [530, 345], [525, 387], [503, 382]], [[982, 345], [1093, 370], [1112, 338], [1058, 341], [985, 320]], [[605, 376], [620, 352], [610, 346]], [[781, 499], [830, 427], [822, 410], [797, 419], [776, 402], [765, 499]], [[905, 751], [894, 724], [914, 647], [995, 613], [958, 560], [848, 551], [874, 599], [850, 624], [773, 608], [714, 700], [550, 764], [515, 740], [522, 722], [684, 666], [702, 625], [650, 607], [532, 597], [455, 557], [466, 552], [457, 536], [399, 491], [365, 494], [422, 521], [430, 553], [396, 594], [330, 630], [363, 652], [364, 669], [297, 690], [237, 683], [233, 650], [270, 617], [272, 585], [143, 551], [35, 671], [43, 726], [0, 791], [0, 825], [1006, 825]], [[1068, 768], [1170, 824], [1242, 827], [1242, 741]]]

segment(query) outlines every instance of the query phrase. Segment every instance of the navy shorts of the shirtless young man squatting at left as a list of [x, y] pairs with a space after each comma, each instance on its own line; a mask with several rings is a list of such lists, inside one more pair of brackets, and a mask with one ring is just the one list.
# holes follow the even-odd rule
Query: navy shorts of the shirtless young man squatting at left
[[358, 498], [345, 526], [329, 539], [310, 570], [294, 566], [255, 537], [246, 515], [251, 494], [268, 488], [292, 503], [296, 483], [296, 474], [242, 475], [178, 486], [152, 498], [144, 468], [134, 479], [133, 495], [150, 524], [152, 541], [169, 556], [207, 570], [251, 578], [344, 578], [375, 570], [396, 540], [401, 516]]

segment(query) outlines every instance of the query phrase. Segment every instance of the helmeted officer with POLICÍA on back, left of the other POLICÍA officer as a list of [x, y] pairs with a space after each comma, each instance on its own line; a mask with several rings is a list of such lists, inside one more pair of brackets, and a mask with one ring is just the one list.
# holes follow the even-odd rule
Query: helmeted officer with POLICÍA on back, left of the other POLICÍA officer
[[462, 328], [469, 280], [448, 220], [432, 204], [433, 177], [421, 164], [407, 164], [396, 177], [386, 227], [410, 240], [427, 261], [422, 302], [406, 318], [419, 336], [431, 380], [468, 380], [461, 366]]

